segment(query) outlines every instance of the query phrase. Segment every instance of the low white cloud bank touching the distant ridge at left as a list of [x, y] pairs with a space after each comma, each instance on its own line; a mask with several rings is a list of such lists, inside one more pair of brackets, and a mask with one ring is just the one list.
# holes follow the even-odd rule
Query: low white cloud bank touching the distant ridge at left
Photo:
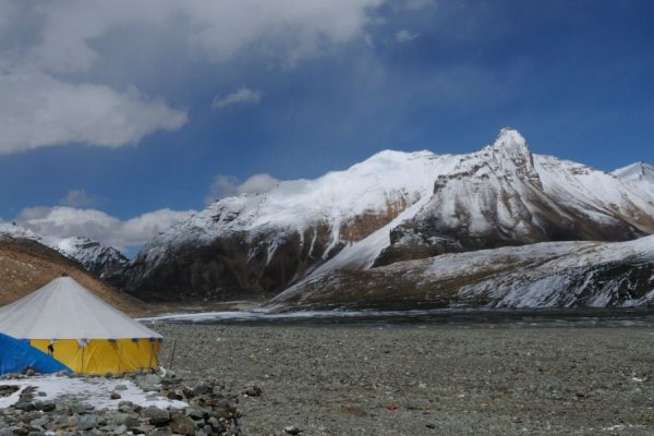
[[70, 237], [86, 237], [105, 245], [124, 250], [146, 243], [158, 232], [167, 230], [193, 213], [195, 210], [159, 209], [123, 221], [96, 209], [32, 207], [21, 211], [15, 221], [49, 242]]

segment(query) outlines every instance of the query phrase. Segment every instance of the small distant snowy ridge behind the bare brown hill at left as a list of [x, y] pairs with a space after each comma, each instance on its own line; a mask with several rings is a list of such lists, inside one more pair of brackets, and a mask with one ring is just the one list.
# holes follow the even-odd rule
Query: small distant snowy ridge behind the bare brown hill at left
[[2, 238], [41, 243], [80, 263], [86, 270], [98, 277], [118, 284], [122, 283], [121, 277], [129, 263], [118, 250], [101, 245], [88, 238], [44, 238], [13, 222], [0, 222], [0, 239]]

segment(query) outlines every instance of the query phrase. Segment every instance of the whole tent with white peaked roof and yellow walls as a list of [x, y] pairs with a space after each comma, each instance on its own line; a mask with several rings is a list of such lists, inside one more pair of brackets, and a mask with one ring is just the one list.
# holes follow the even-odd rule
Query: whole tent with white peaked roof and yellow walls
[[161, 335], [138, 324], [70, 277], [0, 308], [0, 332], [51, 354], [76, 373], [158, 365]]

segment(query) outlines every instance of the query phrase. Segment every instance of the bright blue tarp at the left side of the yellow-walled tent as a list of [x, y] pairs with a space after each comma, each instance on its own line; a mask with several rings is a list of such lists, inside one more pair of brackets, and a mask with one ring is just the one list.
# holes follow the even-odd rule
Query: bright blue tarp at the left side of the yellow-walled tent
[[29, 346], [28, 342], [0, 334], [0, 375], [21, 373], [26, 366], [34, 367], [40, 374], [71, 372], [68, 366]]

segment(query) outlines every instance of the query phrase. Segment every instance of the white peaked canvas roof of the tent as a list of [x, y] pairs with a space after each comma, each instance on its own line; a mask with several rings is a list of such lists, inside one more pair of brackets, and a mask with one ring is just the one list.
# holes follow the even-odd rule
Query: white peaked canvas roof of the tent
[[161, 338], [70, 277], [1, 307], [0, 332], [17, 339]]

